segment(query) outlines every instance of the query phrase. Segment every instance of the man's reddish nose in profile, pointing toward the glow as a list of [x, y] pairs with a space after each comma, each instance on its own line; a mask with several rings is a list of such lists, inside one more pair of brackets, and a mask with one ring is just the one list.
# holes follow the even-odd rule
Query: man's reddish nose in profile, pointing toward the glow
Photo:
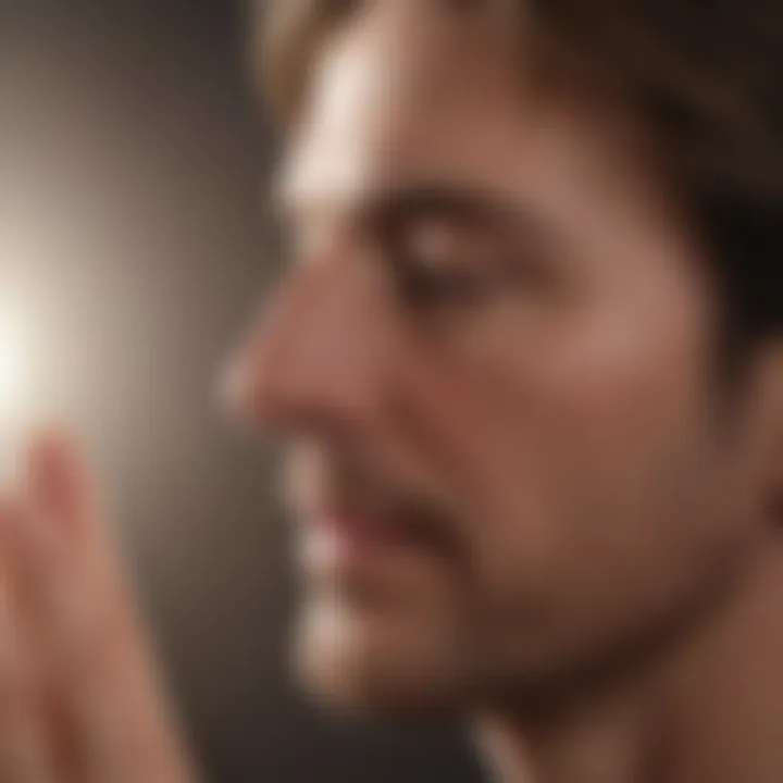
[[229, 363], [229, 410], [262, 430], [310, 435], [375, 415], [388, 308], [371, 270], [310, 264], [289, 274]]

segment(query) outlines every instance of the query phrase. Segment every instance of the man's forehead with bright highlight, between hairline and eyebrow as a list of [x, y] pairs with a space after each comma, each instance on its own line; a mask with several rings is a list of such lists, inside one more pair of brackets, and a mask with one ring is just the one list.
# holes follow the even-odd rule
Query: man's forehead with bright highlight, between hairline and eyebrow
[[540, 89], [533, 52], [486, 12], [446, 5], [372, 3], [327, 41], [282, 172], [287, 204], [358, 204], [417, 182], [524, 196], [617, 161], [624, 141], [587, 101]]

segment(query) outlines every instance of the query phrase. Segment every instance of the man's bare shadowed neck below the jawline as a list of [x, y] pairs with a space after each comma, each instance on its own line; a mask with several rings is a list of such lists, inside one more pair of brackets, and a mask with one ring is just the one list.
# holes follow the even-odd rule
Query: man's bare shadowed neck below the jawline
[[477, 723], [500, 783], [783, 780], [783, 551], [654, 663], [542, 714]]

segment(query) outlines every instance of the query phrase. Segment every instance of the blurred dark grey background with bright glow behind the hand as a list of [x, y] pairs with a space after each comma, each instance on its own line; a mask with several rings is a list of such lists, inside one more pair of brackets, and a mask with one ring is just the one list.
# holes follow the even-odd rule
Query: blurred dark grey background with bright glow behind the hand
[[231, 0], [0, 0], [0, 448], [87, 444], [208, 780], [477, 781], [453, 731], [325, 720], [285, 670], [272, 455], [214, 375], [275, 272]]

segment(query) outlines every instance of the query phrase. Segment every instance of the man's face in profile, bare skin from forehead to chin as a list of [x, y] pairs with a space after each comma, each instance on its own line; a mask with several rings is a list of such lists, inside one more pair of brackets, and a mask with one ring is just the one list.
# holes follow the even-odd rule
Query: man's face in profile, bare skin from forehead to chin
[[691, 617], [741, 557], [743, 473], [631, 120], [405, 0], [331, 39], [290, 141], [295, 247], [237, 388], [289, 447], [309, 684], [465, 705]]

